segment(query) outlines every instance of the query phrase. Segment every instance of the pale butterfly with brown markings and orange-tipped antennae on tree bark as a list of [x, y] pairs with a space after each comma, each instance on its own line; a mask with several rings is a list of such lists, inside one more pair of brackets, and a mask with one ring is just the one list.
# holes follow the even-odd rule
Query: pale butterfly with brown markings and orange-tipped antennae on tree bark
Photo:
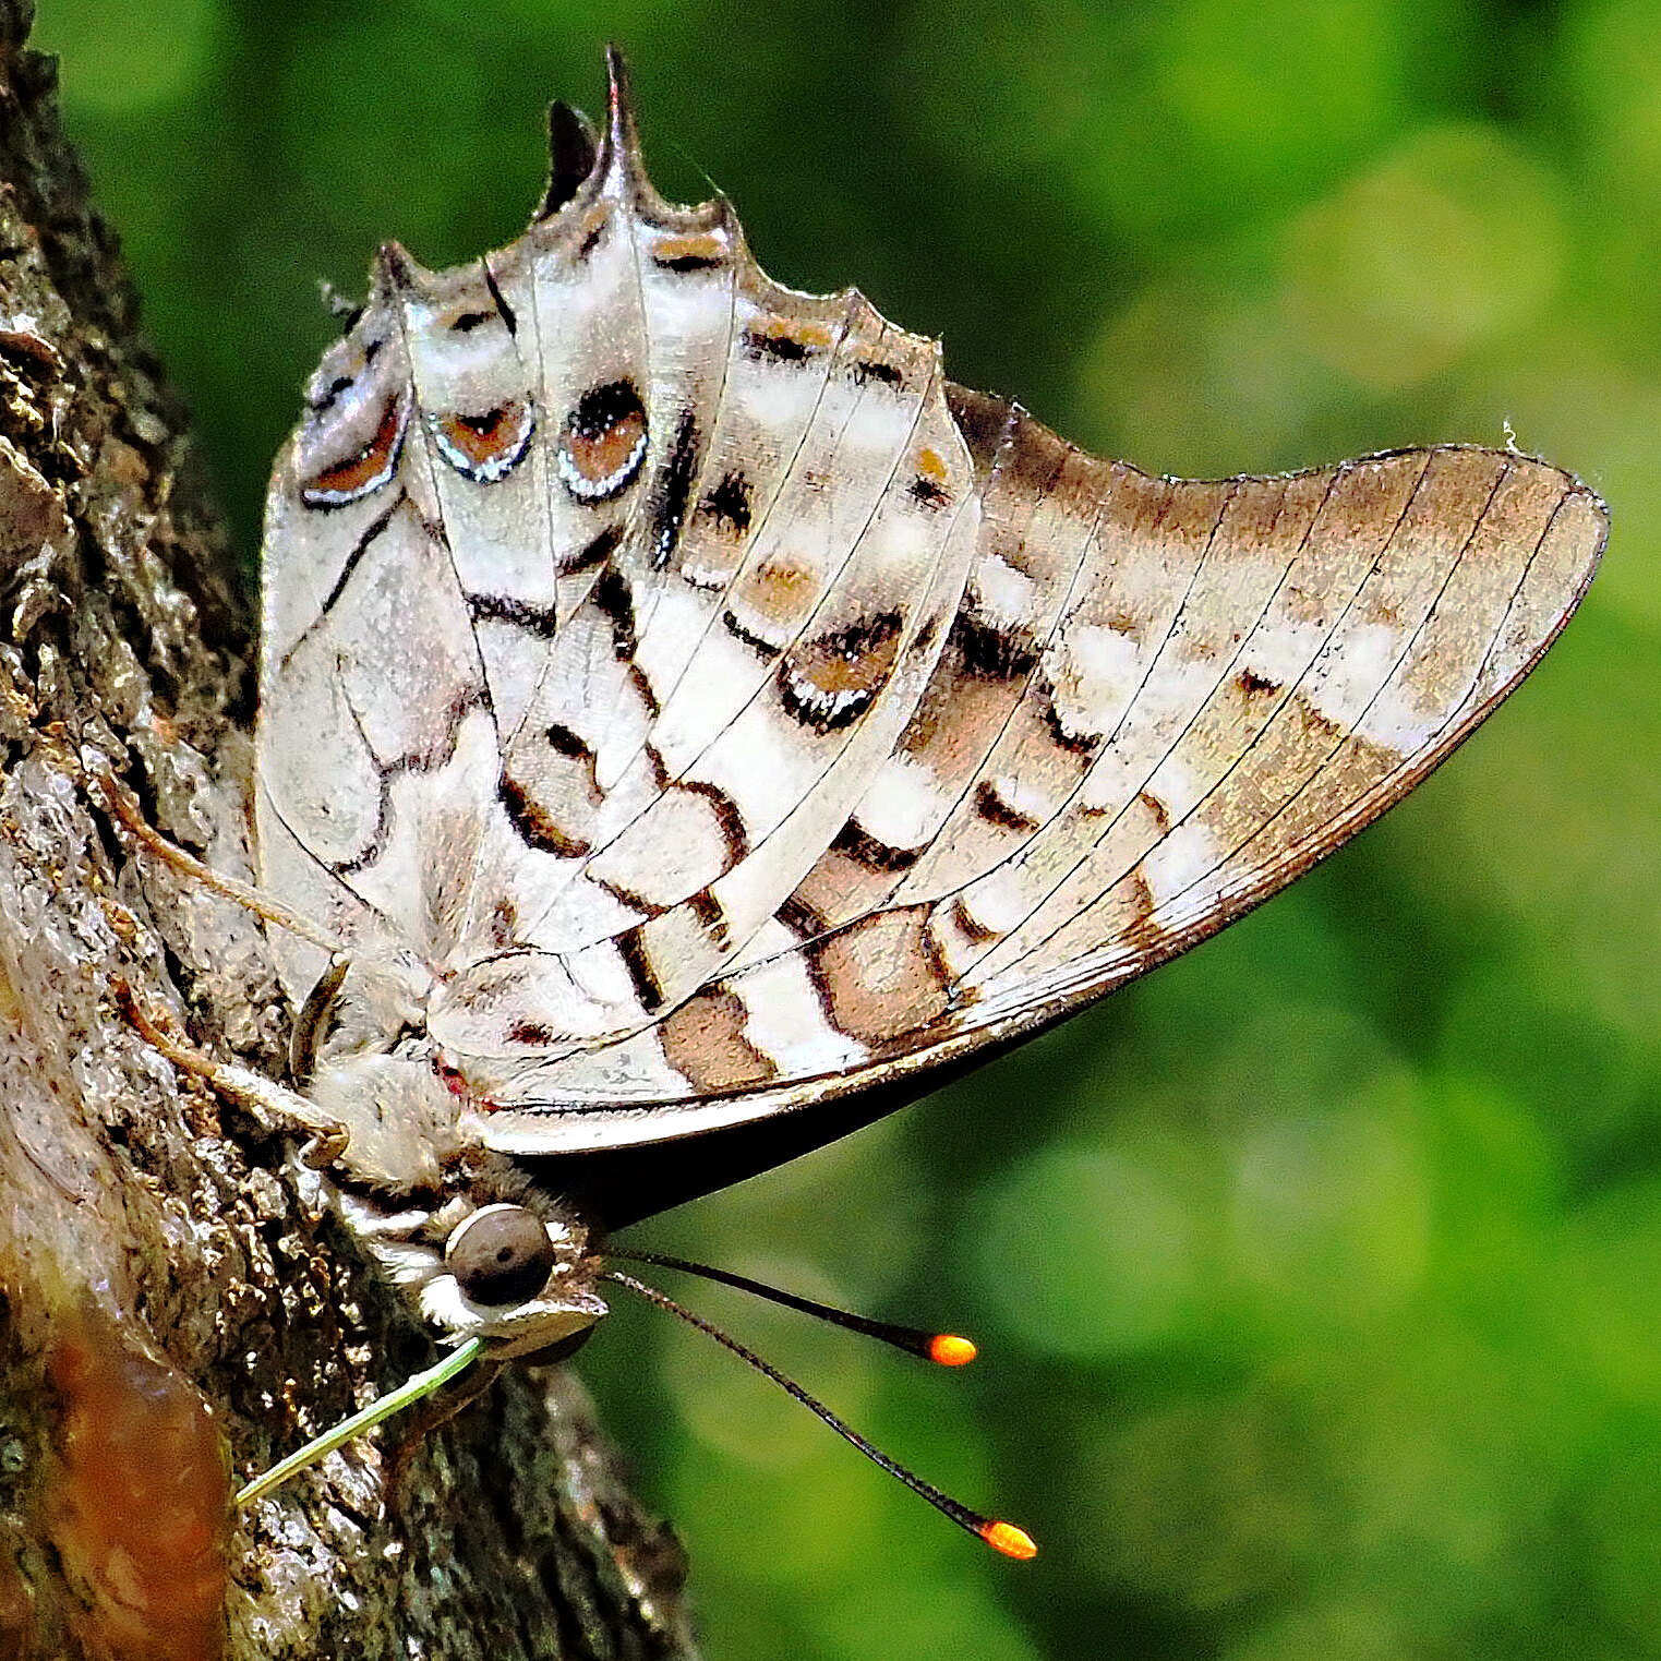
[[1523, 679], [1606, 533], [1513, 450], [1096, 460], [663, 201], [610, 76], [598, 135], [553, 106], [518, 241], [382, 247], [271, 483], [291, 1116], [453, 1345], [367, 1417], [575, 1349], [608, 1284], [686, 1314], [613, 1231], [1267, 899]]

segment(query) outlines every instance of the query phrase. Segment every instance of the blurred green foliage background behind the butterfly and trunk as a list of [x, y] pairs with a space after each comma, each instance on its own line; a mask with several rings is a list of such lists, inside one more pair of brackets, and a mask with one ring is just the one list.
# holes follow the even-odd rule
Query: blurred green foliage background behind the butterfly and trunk
[[643, 1231], [972, 1332], [945, 1374], [678, 1287], [1043, 1546], [995, 1558], [625, 1309], [581, 1370], [711, 1661], [1661, 1654], [1661, 7], [42, 0], [249, 551], [317, 279], [512, 239], [608, 37], [663, 186], [1098, 452], [1508, 422], [1616, 510], [1540, 673], [1342, 857]]

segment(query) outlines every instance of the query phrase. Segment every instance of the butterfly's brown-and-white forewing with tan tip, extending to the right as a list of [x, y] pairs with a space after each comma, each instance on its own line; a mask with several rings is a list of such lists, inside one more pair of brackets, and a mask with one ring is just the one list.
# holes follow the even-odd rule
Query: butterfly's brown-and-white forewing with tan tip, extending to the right
[[1528, 673], [1603, 546], [1596, 497], [1512, 452], [1171, 482], [953, 407], [985, 515], [952, 644], [781, 909], [789, 943], [505, 1081], [495, 1144], [739, 1124], [1036, 1031], [1399, 801]]

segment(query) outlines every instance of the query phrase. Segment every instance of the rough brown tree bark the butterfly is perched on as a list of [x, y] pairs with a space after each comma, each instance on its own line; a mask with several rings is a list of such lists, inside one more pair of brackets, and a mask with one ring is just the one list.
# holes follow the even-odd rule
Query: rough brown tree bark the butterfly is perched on
[[0, 0], [0, 1661], [689, 1654], [679, 1548], [556, 1372], [390, 1493], [394, 1428], [229, 1515], [434, 1357], [281, 1141], [120, 1013], [281, 1073], [257, 927], [90, 782], [246, 875], [249, 610], [28, 23]]

